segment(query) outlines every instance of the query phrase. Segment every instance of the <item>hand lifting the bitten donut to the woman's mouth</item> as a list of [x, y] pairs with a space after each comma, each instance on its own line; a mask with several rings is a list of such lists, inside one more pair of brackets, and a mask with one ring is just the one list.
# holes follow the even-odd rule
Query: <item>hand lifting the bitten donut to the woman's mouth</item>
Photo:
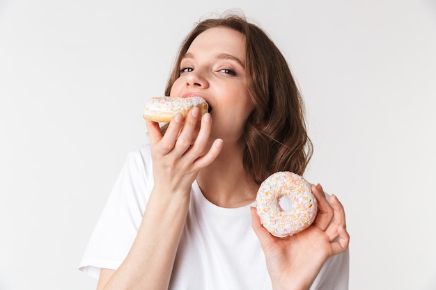
[[221, 151], [220, 139], [215, 140], [210, 149], [207, 148], [212, 118], [207, 112], [204, 115], [201, 113], [197, 107], [185, 116], [176, 112], [164, 135], [157, 122], [146, 121], [152, 148], [155, 186], [164, 187], [161, 188], [162, 192], [189, 193], [198, 170], [208, 166]]

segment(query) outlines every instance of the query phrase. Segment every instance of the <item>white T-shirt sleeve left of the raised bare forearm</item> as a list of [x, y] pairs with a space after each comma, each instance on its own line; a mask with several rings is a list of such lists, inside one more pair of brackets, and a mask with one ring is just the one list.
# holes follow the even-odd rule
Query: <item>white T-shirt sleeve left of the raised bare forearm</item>
[[128, 154], [91, 235], [79, 270], [98, 278], [101, 268], [117, 269], [137, 236], [153, 174], [149, 147]]

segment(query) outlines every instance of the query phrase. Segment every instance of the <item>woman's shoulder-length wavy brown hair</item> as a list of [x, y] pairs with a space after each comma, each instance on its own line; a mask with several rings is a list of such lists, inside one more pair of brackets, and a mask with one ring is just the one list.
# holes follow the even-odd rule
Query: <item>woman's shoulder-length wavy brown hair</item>
[[303, 175], [313, 146], [306, 131], [302, 97], [281, 51], [263, 29], [244, 16], [229, 14], [198, 22], [182, 42], [165, 95], [180, 76], [180, 62], [194, 39], [207, 29], [223, 26], [245, 35], [247, 87], [255, 104], [244, 133], [245, 170], [258, 184], [278, 171]]

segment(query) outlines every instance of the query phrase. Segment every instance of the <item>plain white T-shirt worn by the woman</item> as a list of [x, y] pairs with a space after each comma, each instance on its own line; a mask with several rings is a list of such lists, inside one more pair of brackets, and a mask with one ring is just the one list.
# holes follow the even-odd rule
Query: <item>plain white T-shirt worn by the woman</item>
[[[153, 188], [150, 146], [127, 156], [79, 269], [98, 278], [130, 250]], [[329, 258], [311, 289], [346, 290], [348, 251]], [[265, 256], [251, 228], [250, 205], [217, 207], [194, 182], [169, 289], [272, 289]]]

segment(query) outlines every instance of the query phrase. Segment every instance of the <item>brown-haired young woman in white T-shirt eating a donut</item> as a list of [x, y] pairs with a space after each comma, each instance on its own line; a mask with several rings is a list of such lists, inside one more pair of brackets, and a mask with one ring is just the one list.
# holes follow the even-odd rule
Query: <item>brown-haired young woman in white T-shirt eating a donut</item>
[[[252, 208], [277, 171], [311, 156], [302, 99], [279, 49], [230, 15], [200, 22], [180, 48], [166, 95], [198, 95], [150, 145], [129, 154], [81, 261], [98, 289], [348, 289], [345, 214], [312, 186], [318, 216], [276, 238]], [[213, 122], [212, 122], [213, 120]]]

